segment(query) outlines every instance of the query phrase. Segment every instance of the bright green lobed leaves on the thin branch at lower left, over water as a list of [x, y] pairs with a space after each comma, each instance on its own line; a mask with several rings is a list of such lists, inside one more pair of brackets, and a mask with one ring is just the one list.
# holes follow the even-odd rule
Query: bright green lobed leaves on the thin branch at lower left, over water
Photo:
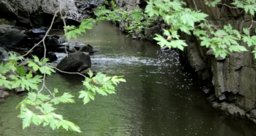
[[[44, 76], [55, 72], [53, 67], [47, 64], [47, 58], [42, 60], [39, 60], [37, 56], [33, 56], [33, 58], [33, 60], [27, 61], [27, 66], [34, 71], [41, 72]], [[28, 91], [27, 97], [16, 107], [21, 111], [18, 117], [22, 119], [23, 129], [33, 123], [37, 126], [49, 125], [53, 130], [64, 128], [65, 130], [81, 132], [80, 128], [73, 122], [64, 120], [62, 115], [56, 114], [54, 112], [56, 108], [53, 107], [60, 103], [75, 103], [75, 100], [72, 99], [74, 96], [67, 92], [57, 96], [56, 94], [59, 92], [57, 88], [53, 92], [48, 90], [49, 95], [42, 94], [43, 87], [39, 89], [38, 84], [42, 83], [45, 77], [39, 74], [33, 76], [31, 71], [25, 71], [24, 66], [19, 66], [17, 62], [23, 59], [23, 57], [18, 57], [16, 54], [11, 54], [8, 62], [0, 64], [0, 85], [4, 85], [8, 89], [21, 87], [23, 90], [26, 89]], [[107, 95], [107, 93], [114, 94], [115, 85], [125, 82], [122, 76], [110, 77], [103, 73], [97, 73], [93, 77], [91, 71], [89, 75], [90, 77], [86, 77], [85, 81], [83, 81], [85, 90], [80, 91], [79, 95], [79, 98], [84, 98], [84, 104], [88, 103], [90, 99], [94, 100], [96, 92], [102, 95]]]

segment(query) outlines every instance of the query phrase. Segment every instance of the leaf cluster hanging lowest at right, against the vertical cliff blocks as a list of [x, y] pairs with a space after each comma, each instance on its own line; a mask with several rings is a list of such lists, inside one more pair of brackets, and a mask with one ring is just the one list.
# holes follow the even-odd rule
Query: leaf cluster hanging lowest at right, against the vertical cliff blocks
[[215, 57], [225, 58], [229, 52], [247, 51], [244, 46], [239, 45], [239, 41], [242, 40], [240, 31], [233, 29], [230, 24], [217, 31], [213, 31], [212, 25], [209, 24], [201, 23], [199, 26], [201, 28], [207, 27], [209, 31], [196, 29], [193, 32], [194, 35], [201, 40], [201, 46], [213, 49]]

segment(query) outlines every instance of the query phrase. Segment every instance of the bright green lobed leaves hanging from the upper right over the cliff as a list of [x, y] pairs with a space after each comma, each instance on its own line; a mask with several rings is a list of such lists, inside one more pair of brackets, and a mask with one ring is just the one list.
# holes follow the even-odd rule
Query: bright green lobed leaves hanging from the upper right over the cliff
[[[219, 2], [220, 0], [207, 1], [206, 4], [215, 6]], [[243, 28], [243, 33], [233, 29], [231, 25], [225, 25], [221, 29], [215, 29], [215, 26], [206, 21], [205, 18], [208, 15], [202, 13], [200, 10], [193, 11], [192, 9], [185, 8], [186, 3], [181, 0], [149, 0], [147, 3], [145, 12], [151, 17], [161, 16], [165, 23], [170, 26], [169, 30], [163, 30], [164, 37], [156, 34], [154, 38], [161, 47], [167, 46], [169, 48], [173, 47], [183, 50], [187, 46], [187, 43], [180, 39], [178, 31], [183, 31], [188, 35], [191, 35], [192, 31], [201, 40], [201, 46], [213, 49], [215, 57], [220, 56], [225, 58], [230, 52], [247, 51], [244, 46], [240, 45], [240, 42], [247, 43], [249, 47], [256, 45], [256, 36], [250, 36], [251, 27]], [[231, 4], [235, 5], [234, 8], [244, 9], [245, 13], [249, 13], [251, 18], [253, 18], [256, 11], [256, 0], [235, 0]], [[202, 21], [205, 23], [195, 26], [196, 23]], [[253, 22], [255, 21], [252, 20]], [[256, 50], [253, 53], [256, 54]]]

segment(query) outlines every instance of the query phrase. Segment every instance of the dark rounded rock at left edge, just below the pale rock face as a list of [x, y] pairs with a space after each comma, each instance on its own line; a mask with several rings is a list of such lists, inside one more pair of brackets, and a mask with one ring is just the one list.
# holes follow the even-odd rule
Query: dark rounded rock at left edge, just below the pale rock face
[[3, 45], [13, 46], [20, 43], [22, 40], [27, 39], [27, 35], [16, 28], [0, 27], [0, 31], [0, 44]]

